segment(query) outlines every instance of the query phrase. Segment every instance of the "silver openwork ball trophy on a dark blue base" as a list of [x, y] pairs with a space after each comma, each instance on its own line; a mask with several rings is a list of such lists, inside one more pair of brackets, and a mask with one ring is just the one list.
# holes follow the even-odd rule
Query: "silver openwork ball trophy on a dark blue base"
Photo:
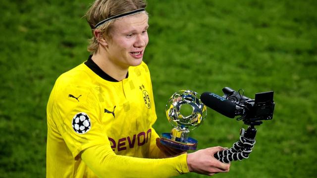
[[171, 133], [161, 134], [163, 145], [181, 150], [196, 150], [197, 140], [189, 137], [190, 130], [196, 129], [205, 120], [206, 106], [197, 92], [180, 90], [175, 92], [166, 104], [166, 116], [174, 127]]

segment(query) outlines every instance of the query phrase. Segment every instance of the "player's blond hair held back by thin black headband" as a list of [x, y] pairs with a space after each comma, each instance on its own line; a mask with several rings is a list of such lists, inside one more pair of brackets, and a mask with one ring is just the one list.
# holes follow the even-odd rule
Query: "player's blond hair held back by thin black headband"
[[[145, 0], [95, 0], [86, 13], [86, 19], [92, 29], [93, 37], [90, 39], [87, 50], [96, 53], [98, 51], [98, 39], [95, 37], [95, 25], [109, 17], [123, 14], [132, 10], [145, 8]], [[111, 20], [98, 27], [101, 31], [100, 38], [110, 38], [110, 29], [114, 20]]]

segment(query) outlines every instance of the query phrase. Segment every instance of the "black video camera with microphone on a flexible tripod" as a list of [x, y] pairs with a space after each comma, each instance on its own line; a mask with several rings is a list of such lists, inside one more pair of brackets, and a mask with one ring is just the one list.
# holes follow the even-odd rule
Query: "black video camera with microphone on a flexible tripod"
[[257, 129], [255, 126], [261, 125], [264, 120], [273, 118], [275, 106], [273, 91], [256, 93], [255, 99], [244, 96], [242, 89], [237, 92], [225, 87], [222, 91], [224, 96], [219, 96], [212, 92], [204, 92], [201, 95], [201, 100], [206, 106], [224, 116], [229, 118], [241, 116], [237, 120], [242, 120], [244, 124], [249, 126], [247, 130], [244, 128], [240, 130], [240, 138], [233, 143], [231, 148], [218, 151], [213, 156], [223, 163], [241, 161], [249, 158], [249, 154], [256, 143]]

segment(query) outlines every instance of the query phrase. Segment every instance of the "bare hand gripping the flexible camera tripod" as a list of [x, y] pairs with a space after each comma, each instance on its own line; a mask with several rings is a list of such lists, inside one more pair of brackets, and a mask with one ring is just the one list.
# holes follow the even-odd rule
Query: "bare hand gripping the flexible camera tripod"
[[216, 173], [229, 172], [230, 164], [225, 164], [213, 157], [217, 151], [222, 151], [221, 146], [198, 150], [187, 155], [187, 165], [190, 172], [212, 176]]

